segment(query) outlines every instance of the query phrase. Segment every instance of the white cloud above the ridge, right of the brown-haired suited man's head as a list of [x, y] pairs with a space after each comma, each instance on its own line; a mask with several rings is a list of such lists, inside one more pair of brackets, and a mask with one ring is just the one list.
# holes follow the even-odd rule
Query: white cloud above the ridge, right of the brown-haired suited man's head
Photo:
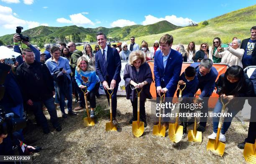
[[145, 20], [142, 22], [142, 25], [150, 25], [156, 22], [160, 22], [162, 20], [166, 20], [177, 26], [186, 26], [186, 25], [189, 25], [189, 21], [193, 21], [187, 17], [186, 18], [177, 17], [176, 15], [166, 15], [164, 18], [163, 17], [158, 18], [152, 15], [146, 15]]

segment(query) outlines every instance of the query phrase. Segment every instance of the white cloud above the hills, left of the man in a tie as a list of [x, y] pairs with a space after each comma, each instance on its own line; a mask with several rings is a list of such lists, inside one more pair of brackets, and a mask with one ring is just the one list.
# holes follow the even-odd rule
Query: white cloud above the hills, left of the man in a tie
[[70, 20], [64, 17], [61, 17], [61, 18], [58, 18], [56, 21], [59, 23], [72, 23], [74, 25], [94, 25], [94, 23], [90, 19], [88, 19], [81, 13], [69, 15], [69, 17], [70, 17]]

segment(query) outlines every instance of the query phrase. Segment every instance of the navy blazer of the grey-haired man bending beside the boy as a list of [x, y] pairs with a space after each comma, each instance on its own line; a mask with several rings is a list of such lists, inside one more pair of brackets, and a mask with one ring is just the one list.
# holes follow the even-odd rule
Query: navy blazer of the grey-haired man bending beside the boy
[[210, 97], [215, 88], [215, 81], [218, 77], [218, 71], [215, 67], [212, 67], [209, 73], [207, 73], [205, 76], [200, 76], [199, 64], [200, 62], [195, 62], [192, 63], [190, 66], [194, 67], [197, 72], [197, 78], [199, 80], [198, 87], [201, 89], [200, 98]]

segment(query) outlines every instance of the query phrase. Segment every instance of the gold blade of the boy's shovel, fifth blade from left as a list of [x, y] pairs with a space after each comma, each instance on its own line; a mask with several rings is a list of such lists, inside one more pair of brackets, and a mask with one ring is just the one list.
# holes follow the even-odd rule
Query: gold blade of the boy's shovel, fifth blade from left
[[180, 142], [183, 135], [183, 126], [176, 124], [169, 124], [169, 138], [172, 142]]

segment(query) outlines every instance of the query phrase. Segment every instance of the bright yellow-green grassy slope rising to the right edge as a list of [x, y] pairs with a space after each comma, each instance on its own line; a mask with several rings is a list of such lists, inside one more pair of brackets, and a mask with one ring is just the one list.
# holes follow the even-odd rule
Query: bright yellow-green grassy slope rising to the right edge
[[211, 46], [214, 37], [220, 37], [223, 43], [231, 42], [233, 37], [243, 40], [250, 37], [250, 28], [256, 25], [256, 5], [229, 12], [207, 22], [208, 25], [202, 25], [200, 22], [198, 26], [182, 27], [156, 35], [138, 37], [136, 42], [146, 40], [151, 46], [155, 40], [159, 40], [167, 33], [173, 35], [174, 44], [182, 43], [186, 45], [185, 47], [191, 41], [197, 45], [207, 42]]

